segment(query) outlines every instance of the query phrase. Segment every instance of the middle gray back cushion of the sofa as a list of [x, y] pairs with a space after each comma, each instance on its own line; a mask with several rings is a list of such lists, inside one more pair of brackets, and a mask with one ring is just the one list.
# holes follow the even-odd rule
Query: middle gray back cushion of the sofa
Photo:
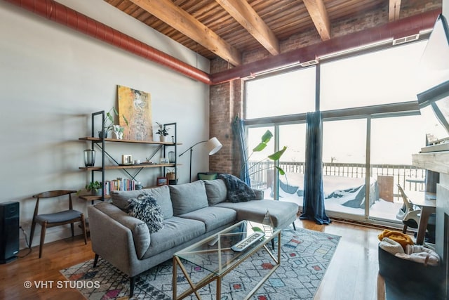
[[208, 207], [208, 196], [203, 181], [169, 185], [169, 187], [175, 216]]

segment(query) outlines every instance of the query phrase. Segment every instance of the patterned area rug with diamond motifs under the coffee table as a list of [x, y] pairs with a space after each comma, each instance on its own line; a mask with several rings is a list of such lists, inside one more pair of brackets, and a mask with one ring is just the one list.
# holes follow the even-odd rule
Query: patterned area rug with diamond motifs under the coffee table
[[[313, 299], [340, 237], [328, 233], [298, 228], [283, 230], [281, 235], [281, 266], [255, 292], [251, 299]], [[276, 247], [277, 249], [277, 247]], [[260, 278], [272, 268], [272, 259], [261, 249], [241, 263], [222, 280], [222, 300], [243, 299]], [[208, 274], [207, 270], [187, 263], [187, 271], [194, 282]], [[172, 299], [172, 261], [142, 273], [136, 279], [132, 299]], [[93, 259], [60, 271], [88, 299], [128, 299], [129, 279], [100, 258], [96, 268]], [[177, 293], [189, 284], [178, 268]], [[200, 289], [201, 299], [216, 299], [215, 282]], [[192, 294], [185, 299], [196, 299]]]

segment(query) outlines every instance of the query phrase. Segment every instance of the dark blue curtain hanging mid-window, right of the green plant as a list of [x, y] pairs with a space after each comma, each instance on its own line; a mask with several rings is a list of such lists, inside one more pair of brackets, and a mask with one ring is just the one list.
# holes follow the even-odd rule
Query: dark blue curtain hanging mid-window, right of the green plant
[[321, 112], [307, 113], [306, 165], [304, 169], [304, 199], [300, 219], [329, 224], [323, 192], [323, 121]]

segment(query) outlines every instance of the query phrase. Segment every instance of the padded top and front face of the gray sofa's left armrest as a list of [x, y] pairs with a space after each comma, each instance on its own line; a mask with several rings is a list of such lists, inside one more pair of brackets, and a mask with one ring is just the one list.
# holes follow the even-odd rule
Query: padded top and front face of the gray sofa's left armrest
[[147, 252], [151, 241], [147, 224], [144, 221], [126, 214], [126, 212], [119, 209], [119, 207], [107, 202], [100, 202], [95, 204], [94, 207], [99, 211], [102, 211], [102, 213], [106, 214], [111, 219], [114, 219], [114, 221], [121, 223], [121, 225], [131, 230], [135, 252], [138, 258], [142, 259], [142, 256]]

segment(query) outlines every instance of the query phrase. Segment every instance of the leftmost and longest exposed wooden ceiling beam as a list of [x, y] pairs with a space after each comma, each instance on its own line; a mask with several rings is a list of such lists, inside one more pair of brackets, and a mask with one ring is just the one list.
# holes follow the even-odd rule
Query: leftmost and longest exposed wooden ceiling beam
[[199, 20], [175, 6], [170, 0], [130, 0], [133, 4], [151, 13], [156, 18], [182, 32], [201, 46], [208, 48], [232, 65], [241, 65], [241, 53], [228, 44]]

